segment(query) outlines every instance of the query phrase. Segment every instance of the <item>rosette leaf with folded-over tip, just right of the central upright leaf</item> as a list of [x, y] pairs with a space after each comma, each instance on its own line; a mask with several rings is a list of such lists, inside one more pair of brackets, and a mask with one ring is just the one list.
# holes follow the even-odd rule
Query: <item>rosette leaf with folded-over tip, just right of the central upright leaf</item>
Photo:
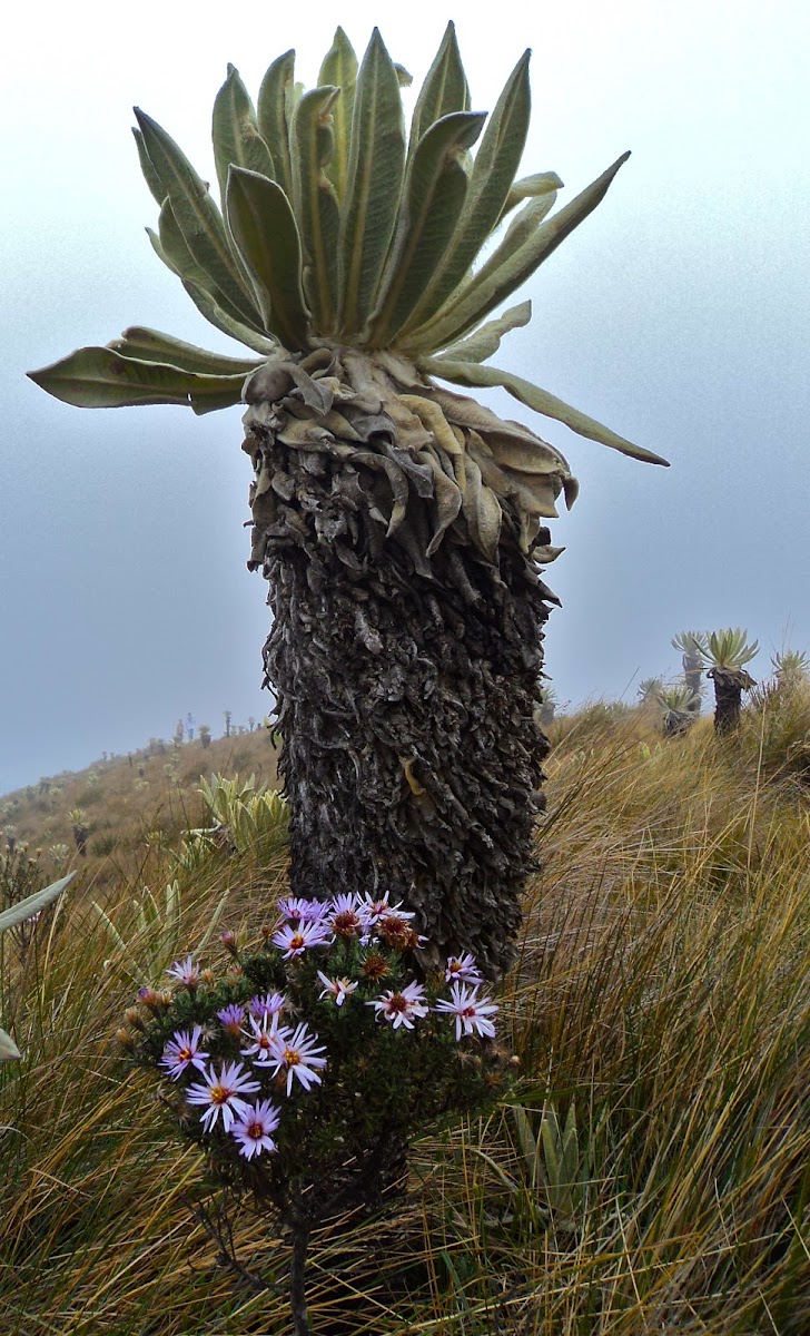
[[414, 154], [380, 307], [371, 322], [371, 339], [378, 346], [395, 338], [432, 286], [467, 198], [463, 158], [484, 119], [483, 112], [451, 112], [431, 126]]

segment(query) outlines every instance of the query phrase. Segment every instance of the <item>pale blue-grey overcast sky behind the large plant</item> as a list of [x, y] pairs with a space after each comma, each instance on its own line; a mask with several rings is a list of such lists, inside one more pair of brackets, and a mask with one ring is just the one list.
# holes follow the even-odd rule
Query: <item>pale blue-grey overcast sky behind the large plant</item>
[[[625, 460], [536, 418], [582, 482], [554, 525], [563, 600], [547, 668], [563, 700], [675, 673], [682, 629], [747, 627], [810, 649], [810, 95], [806, 0], [499, 0], [384, 7], [15, 7], [0, 86], [0, 792], [103, 751], [260, 717], [266, 585], [248, 574], [239, 409], [85, 411], [25, 379], [127, 325], [234, 350], [156, 261], [132, 104], [212, 175], [227, 61], [254, 96], [288, 47], [315, 80], [338, 21], [379, 21], [419, 81], [456, 20], [474, 110], [524, 47], [523, 172], [563, 202], [626, 148], [607, 198], [527, 285], [534, 321], [498, 361], [639, 444]], [[518, 406], [490, 397], [504, 415]]]

